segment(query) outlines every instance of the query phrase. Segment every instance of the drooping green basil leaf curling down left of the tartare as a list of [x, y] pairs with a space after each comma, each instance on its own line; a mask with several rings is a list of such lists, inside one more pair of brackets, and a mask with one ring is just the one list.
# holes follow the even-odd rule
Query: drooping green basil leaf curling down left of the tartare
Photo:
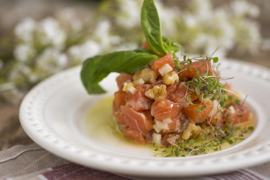
[[135, 73], [157, 58], [157, 55], [134, 51], [119, 51], [97, 55], [83, 62], [82, 83], [89, 94], [104, 93], [106, 91], [98, 85], [98, 82], [108, 76], [109, 73]]

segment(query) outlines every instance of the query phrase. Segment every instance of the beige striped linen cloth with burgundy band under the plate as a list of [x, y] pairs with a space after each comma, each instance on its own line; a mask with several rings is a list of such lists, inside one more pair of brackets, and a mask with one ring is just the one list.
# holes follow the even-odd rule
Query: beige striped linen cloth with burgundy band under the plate
[[[270, 162], [229, 173], [193, 178], [172, 178], [187, 180], [270, 180]], [[55, 156], [37, 144], [16, 145], [0, 151], [0, 179], [6, 180], [130, 180], [163, 179], [128, 177], [107, 171], [84, 167]], [[165, 179], [165, 178], [164, 178]], [[166, 178], [167, 179], [167, 178]]]

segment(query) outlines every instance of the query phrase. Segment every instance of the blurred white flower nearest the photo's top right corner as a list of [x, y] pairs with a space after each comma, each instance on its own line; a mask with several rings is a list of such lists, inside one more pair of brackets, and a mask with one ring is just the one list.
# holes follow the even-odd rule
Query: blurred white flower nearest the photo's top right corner
[[248, 3], [244, 0], [236, 0], [231, 3], [232, 10], [237, 16], [246, 16], [258, 17], [260, 10], [257, 6]]

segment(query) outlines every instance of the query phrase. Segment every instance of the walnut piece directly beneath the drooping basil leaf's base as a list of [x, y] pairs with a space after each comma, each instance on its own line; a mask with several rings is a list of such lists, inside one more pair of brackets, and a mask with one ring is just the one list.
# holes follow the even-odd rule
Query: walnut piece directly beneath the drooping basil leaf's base
[[150, 69], [149, 67], [139, 70], [133, 75], [134, 81], [143, 79], [144, 82], [149, 83], [149, 84], [155, 83], [157, 81], [157, 78], [158, 78], [158, 74], [152, 69]]

